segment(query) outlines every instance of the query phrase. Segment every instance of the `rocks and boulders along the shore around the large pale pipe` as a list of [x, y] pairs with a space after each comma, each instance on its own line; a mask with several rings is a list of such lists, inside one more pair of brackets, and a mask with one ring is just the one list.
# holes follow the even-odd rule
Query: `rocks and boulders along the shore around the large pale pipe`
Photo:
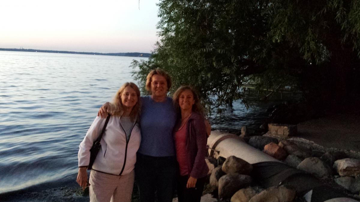
[[[269, 124], [268, 128], [269, 132], [262, 136], [249, 136], [244, 127], [240, 136], [247, 144], [288, 166], [284, 169], [284, 175], [289, 170], [305, 173], [311, 178], [309, 182], [319, 183], [318, 187], [313, 186], [314, 190], [325, 187], [322, 191], [326, 195], [329, 194], [326, 189], [331, 188], [334, 197], [344, 196], [348, 200], [352, 198], [360, 201], [360, 152], [326, 148], [307, 139], [294, 137], [297, 133], [296, 125]], [[256, 172], [254, 173], [253, 167], [258, 166], [257, 164], [249, 164], [235, 156], [226, 159], [216, 154], [214, 156], [208, 157], [207, 163], [211, 168], [210, 185], [214, 189], [215, 198], [207, 201], [311, 201], [306, 196], [309, 195], [306, 193], [308, 190], [301, 190], [302, 193], [299, 193], [296, 186], [281, 185], [280, 182], [280, 185], [264, 187], [264, 182], [258, 182], [254, 176]], [[286, 180], [283, 179], [283, 182]], [[301, 180], [299, 182], [307, 183]], [[312, 191], [311, 189], [311, 193]], [[321, 191], [319, 197], [322, 197], [320, 195]]]

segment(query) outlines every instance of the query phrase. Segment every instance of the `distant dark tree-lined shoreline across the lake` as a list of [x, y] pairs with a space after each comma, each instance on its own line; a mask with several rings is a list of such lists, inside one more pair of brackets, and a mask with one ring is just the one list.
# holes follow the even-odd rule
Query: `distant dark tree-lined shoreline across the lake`
[[84, 55], [129, 56], [129, 57], [143, 57], [143, 58], [149, 58], [152, 55], [151, 53], [145, 53], [145, 52], [100, 53], [100, 52], [76, 52], [76, 51], [54, 51], [54, 50], [37, 50], [37, 49], [4, 49], [4, 48], [0, 48], [0, 51], [53, 52], [53, 53], [84, 54]]

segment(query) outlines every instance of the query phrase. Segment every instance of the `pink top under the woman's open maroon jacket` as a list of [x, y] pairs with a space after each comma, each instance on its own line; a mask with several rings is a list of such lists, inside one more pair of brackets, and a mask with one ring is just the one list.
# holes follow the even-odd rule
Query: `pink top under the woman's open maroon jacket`
[[186, 154], [186, 123], [175, 132], [176, 159], [180, 167], [180, 175], [188, 175], [188, 156]]

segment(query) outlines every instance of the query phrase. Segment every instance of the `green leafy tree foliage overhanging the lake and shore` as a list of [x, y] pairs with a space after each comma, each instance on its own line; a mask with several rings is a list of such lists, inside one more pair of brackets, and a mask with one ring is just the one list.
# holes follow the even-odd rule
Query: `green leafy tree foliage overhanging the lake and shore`
[[356, 80], [347, 76], [359, 72], [359, 0], [161, 0], [158, 7], [160, 40], [148, 61], [133, 61], [135, 78], [145, 83], [150, 69], [165, 69], [171, 92], [191, 85], [208, 109], [247, 104], [242, 85], [254, 76], [259, 88], [297, 87], [319, 104], [344, 97]]

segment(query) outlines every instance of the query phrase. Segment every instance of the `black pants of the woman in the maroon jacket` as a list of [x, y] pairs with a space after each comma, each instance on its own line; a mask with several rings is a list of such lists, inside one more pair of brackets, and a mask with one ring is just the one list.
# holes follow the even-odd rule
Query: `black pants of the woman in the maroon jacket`
[[200, 202], [206, 177], [196, 180], [195, 188], [186, 188], [189, 176], [177, 177], [177, 198], [179, 202]]

